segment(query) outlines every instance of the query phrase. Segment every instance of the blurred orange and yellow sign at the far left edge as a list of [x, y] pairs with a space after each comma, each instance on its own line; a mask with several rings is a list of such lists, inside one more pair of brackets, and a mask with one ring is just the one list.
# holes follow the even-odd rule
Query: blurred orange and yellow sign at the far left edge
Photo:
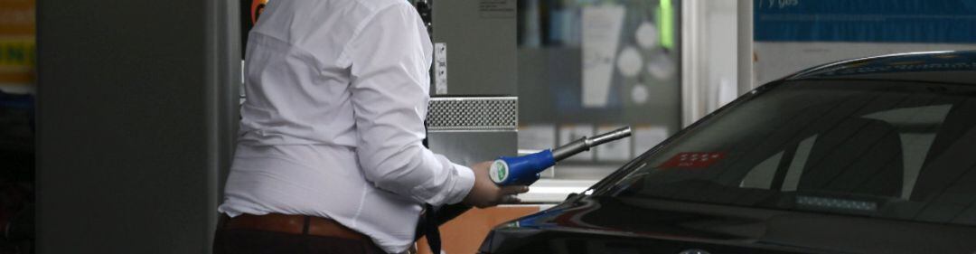
[[34, 0], [0, 0], [0, 85], [31, 85], [37, 46]]

